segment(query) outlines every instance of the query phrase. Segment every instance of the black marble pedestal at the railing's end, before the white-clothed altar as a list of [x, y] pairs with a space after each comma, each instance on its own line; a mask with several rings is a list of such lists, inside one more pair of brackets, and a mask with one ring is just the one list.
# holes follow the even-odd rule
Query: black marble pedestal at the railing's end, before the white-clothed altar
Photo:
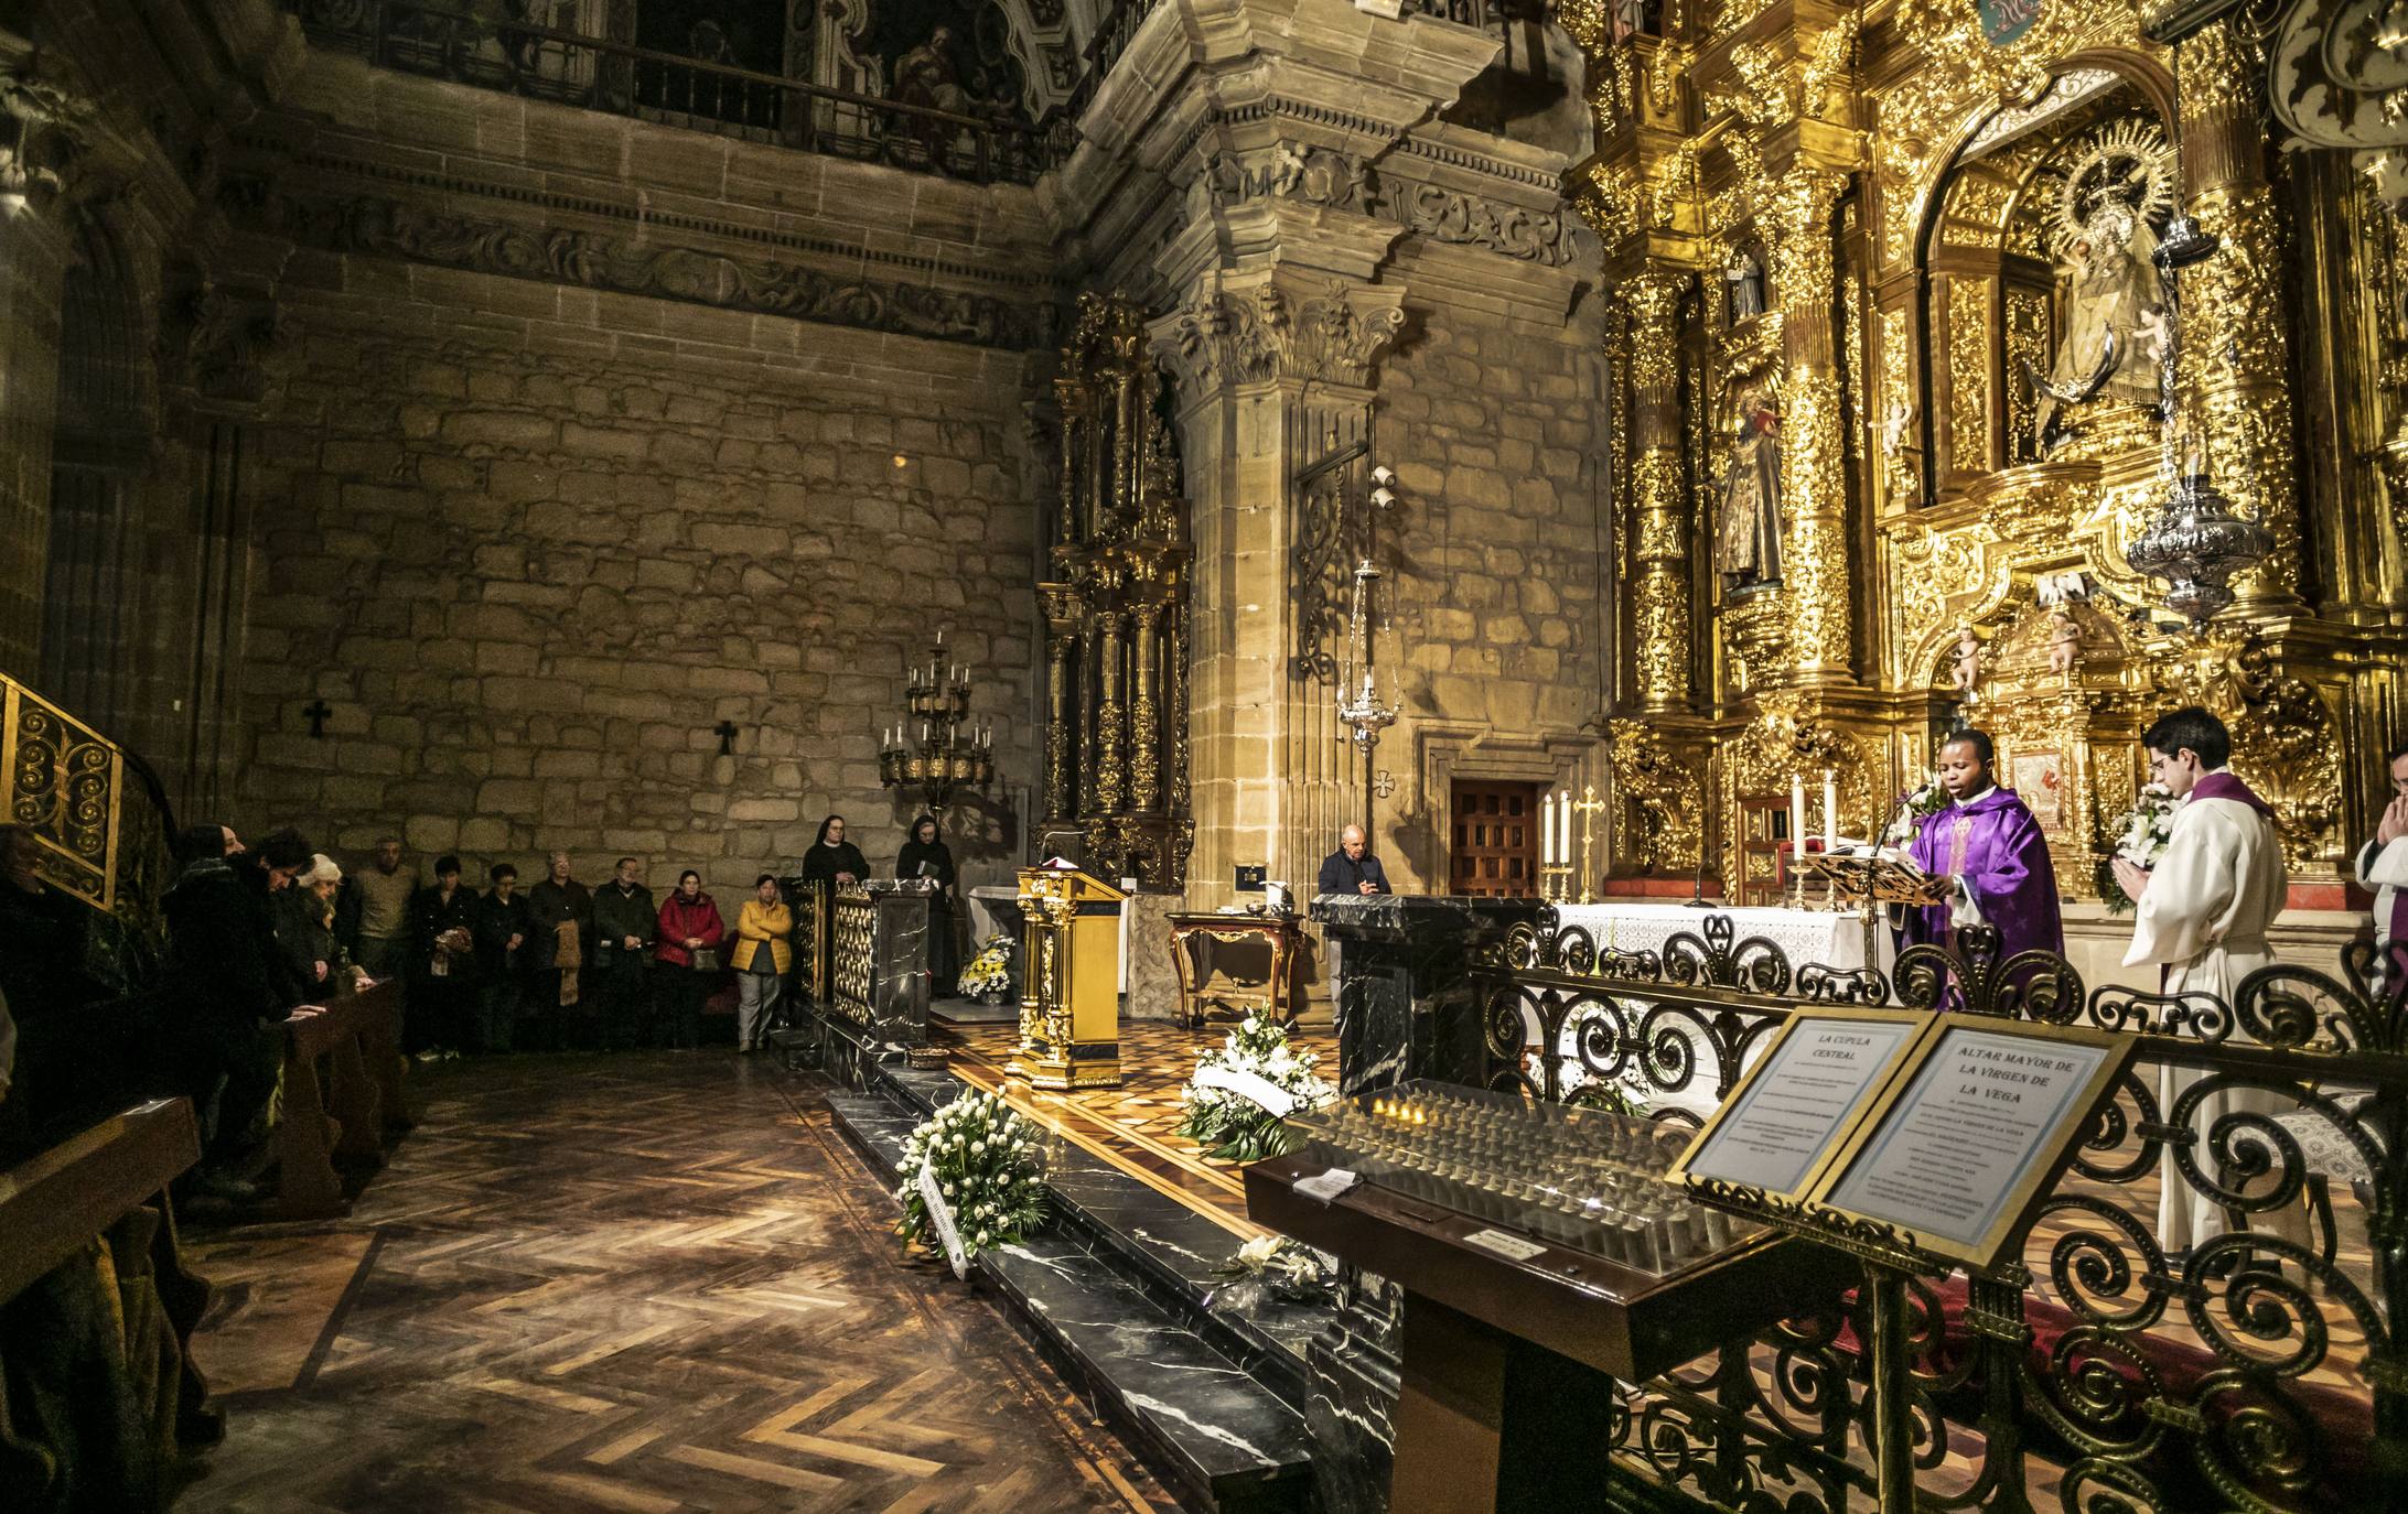
[[1312, 900], [1332, 953], [1339, 1090], [1409, 1078], [1481, 1081], [1471, 960], [1483, 941], [1539, 919], [1534, 898], [1324, 893]]

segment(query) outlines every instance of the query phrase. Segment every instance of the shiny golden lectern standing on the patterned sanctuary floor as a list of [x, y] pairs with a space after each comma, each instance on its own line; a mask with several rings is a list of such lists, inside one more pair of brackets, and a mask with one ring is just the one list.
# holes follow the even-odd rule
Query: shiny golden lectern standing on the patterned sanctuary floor
[[1011, 1076], [1033, 1088], [1120, 1088], [1120, 900], [1060, 867], [1021, 869], [1021, 1045]]

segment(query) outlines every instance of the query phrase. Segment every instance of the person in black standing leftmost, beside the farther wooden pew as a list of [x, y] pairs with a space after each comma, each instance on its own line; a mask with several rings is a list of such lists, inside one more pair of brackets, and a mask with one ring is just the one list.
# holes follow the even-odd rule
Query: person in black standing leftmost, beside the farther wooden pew
[[164, 907], [169, 975], [185, 1013], [173, 1028], [178, 1093], [207, 1131], [197, 1187], [248, 1201], [258, 1189], [241, 1167], [277, 1090], [282, 1021], [303, 996], [277, 951], [267, 903], [311, 867], [311, 845], [299, 830], [275, 830], [258, 852], [226, 847], [238, 842], [222, 826], [185, 830], [183, 874]]

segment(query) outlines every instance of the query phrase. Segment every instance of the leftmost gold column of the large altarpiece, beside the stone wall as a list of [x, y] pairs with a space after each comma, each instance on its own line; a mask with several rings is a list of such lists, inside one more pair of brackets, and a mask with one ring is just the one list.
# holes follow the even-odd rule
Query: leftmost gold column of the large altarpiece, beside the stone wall
[[1623, 284], [1630, 306], [1633, 640], [1647, 710], [1688, 703], [1688, 510], [1681, 486], [1681, 289], [1649, 265]]

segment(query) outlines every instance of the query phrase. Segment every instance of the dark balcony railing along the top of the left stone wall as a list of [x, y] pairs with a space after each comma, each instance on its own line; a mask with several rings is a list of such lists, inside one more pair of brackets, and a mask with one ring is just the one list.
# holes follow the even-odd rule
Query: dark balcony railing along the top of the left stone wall
[[[284, 0], [313, 43], [378, 67], [975, 183], [1035, 183], [1057, 147], [1021, 120], [828, 89], [421, 0]], [[496, 7], [498, 10], [498, 7]]]

